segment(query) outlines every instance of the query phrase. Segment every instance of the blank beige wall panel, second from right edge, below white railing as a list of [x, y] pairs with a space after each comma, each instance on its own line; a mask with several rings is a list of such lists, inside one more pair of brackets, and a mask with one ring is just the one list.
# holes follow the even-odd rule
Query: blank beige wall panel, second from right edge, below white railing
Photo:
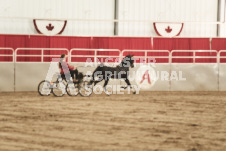
[[171, 91], [218, 91], [218, 64], [171, 64], [171, 70], [181, 71], [186, 80], [172, 80]]

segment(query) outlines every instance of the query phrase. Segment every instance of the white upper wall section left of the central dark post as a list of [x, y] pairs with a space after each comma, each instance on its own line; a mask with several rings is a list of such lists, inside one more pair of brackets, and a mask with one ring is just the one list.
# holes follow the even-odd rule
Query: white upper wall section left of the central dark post
[[[0, 0], [0, 16], [9, 17], [0, 18], [1, 34], [37, 34], [30, 18], [113, 20], [114, 0]], [[62, 35], [112, 36], [113, 33], [113, 22], [69, 20]]]

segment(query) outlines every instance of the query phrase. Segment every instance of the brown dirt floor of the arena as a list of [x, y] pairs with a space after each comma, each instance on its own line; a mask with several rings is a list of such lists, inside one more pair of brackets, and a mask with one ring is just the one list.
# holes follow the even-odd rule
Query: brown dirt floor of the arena
[[1, 151], [225, 151], [226, 92], [0, 93]]

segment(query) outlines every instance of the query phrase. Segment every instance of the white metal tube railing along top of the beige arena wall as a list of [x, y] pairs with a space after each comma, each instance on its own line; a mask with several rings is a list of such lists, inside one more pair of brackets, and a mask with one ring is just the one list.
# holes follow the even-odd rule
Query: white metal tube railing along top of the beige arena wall
[[[9, 50], [10, 53], [4, 54], [1, 53], [1, 50]], [[21, 51], [40, 51], [39, 54], [21, 54]], [[59, 54], [45, 54], [45, 51], [59, 51]], [[91, 54], [81, 54], [81, 52], [91, 52]], [[98, 52], [109, 52], [108, 54], [98, 54]], [[112, 53], [114, 55], [112, 55]], [[0, 48], [0, 57], [11, 57], [12, 61], [0, 61], [0, 62], [23, 62], [18, 60], [20, 57], [38, 57], [39, 62], [48, 62], [45, 61], [44, 58], [47, 57], [56, 57], [59, 58], [61, 53], [65, 53], [68, 56], [69, 62], [74, 58], [93, 58], [94, 62], [98, 62], [98, 58], [118, 58], [121, 60], [127, 54], [137, 53], [134, 58], [142, 58], [144, 59], [144, 63], [147, 63], [148, 58], [154, 59], [168, 59], [167, 63], [175, 63], [174, 59], [191, 59], [191, 63], [197, 63], [197, 59], [216, 59], [216, 61], [212, 61], [212, 63], [226, 63], [226, 50], [123, 50], [120, 51], [118, 49], [79, 49], [73, 48], [70, 51], [66, 48], [17, 48], [15, 51], [13, 48]], [[80, 53], [80, 54], [79, 54]], [[140, 55], [143, 53], [142, 55]], [[159, 55], [150, 55], [154, 53], [159, 53]], [[185, 54], [188, 53], [188, 54]], [[208, 55], [200, 55], [198, 53], [207, 53]], [[225, 61], [221, 61], [221, 59], [225, 59]], [[34, 61], [24, 61], [24, 62], [34, 62]], [[208, 61], [206, 62], [208, 63]]]

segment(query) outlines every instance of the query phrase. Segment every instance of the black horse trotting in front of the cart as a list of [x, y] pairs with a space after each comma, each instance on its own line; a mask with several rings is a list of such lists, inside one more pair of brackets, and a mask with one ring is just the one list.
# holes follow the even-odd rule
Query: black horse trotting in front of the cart
[[[108, 67], [104, 66], [103, 63], [101, 63], [93, 72], [92, 79], [90, 81], [90, 85], [94, 83], [94, 86], [101, 82], [102, 80], [105, 80], [104, 82], [104, 91], [107, 94], [106, 86], [108, 84], [108, 81], [110, 78], [114, 79], [124, 79], [127, 83], [127, 87], [132, 87], [130, 84], [130, 81], [128, 79], [129, 76], [129, 68], [134, 67], [134, 58], [133, 55], [127, 55], [125, 58], [123, 58], [122, 62], [116, 66], [116, 67]], [[95, 77], [98, 77], [98, 80], [95, 81]], [[123, 87], [124, 89], [126, 87]], [[136, 92], [133, 92], [135, 94]]]

